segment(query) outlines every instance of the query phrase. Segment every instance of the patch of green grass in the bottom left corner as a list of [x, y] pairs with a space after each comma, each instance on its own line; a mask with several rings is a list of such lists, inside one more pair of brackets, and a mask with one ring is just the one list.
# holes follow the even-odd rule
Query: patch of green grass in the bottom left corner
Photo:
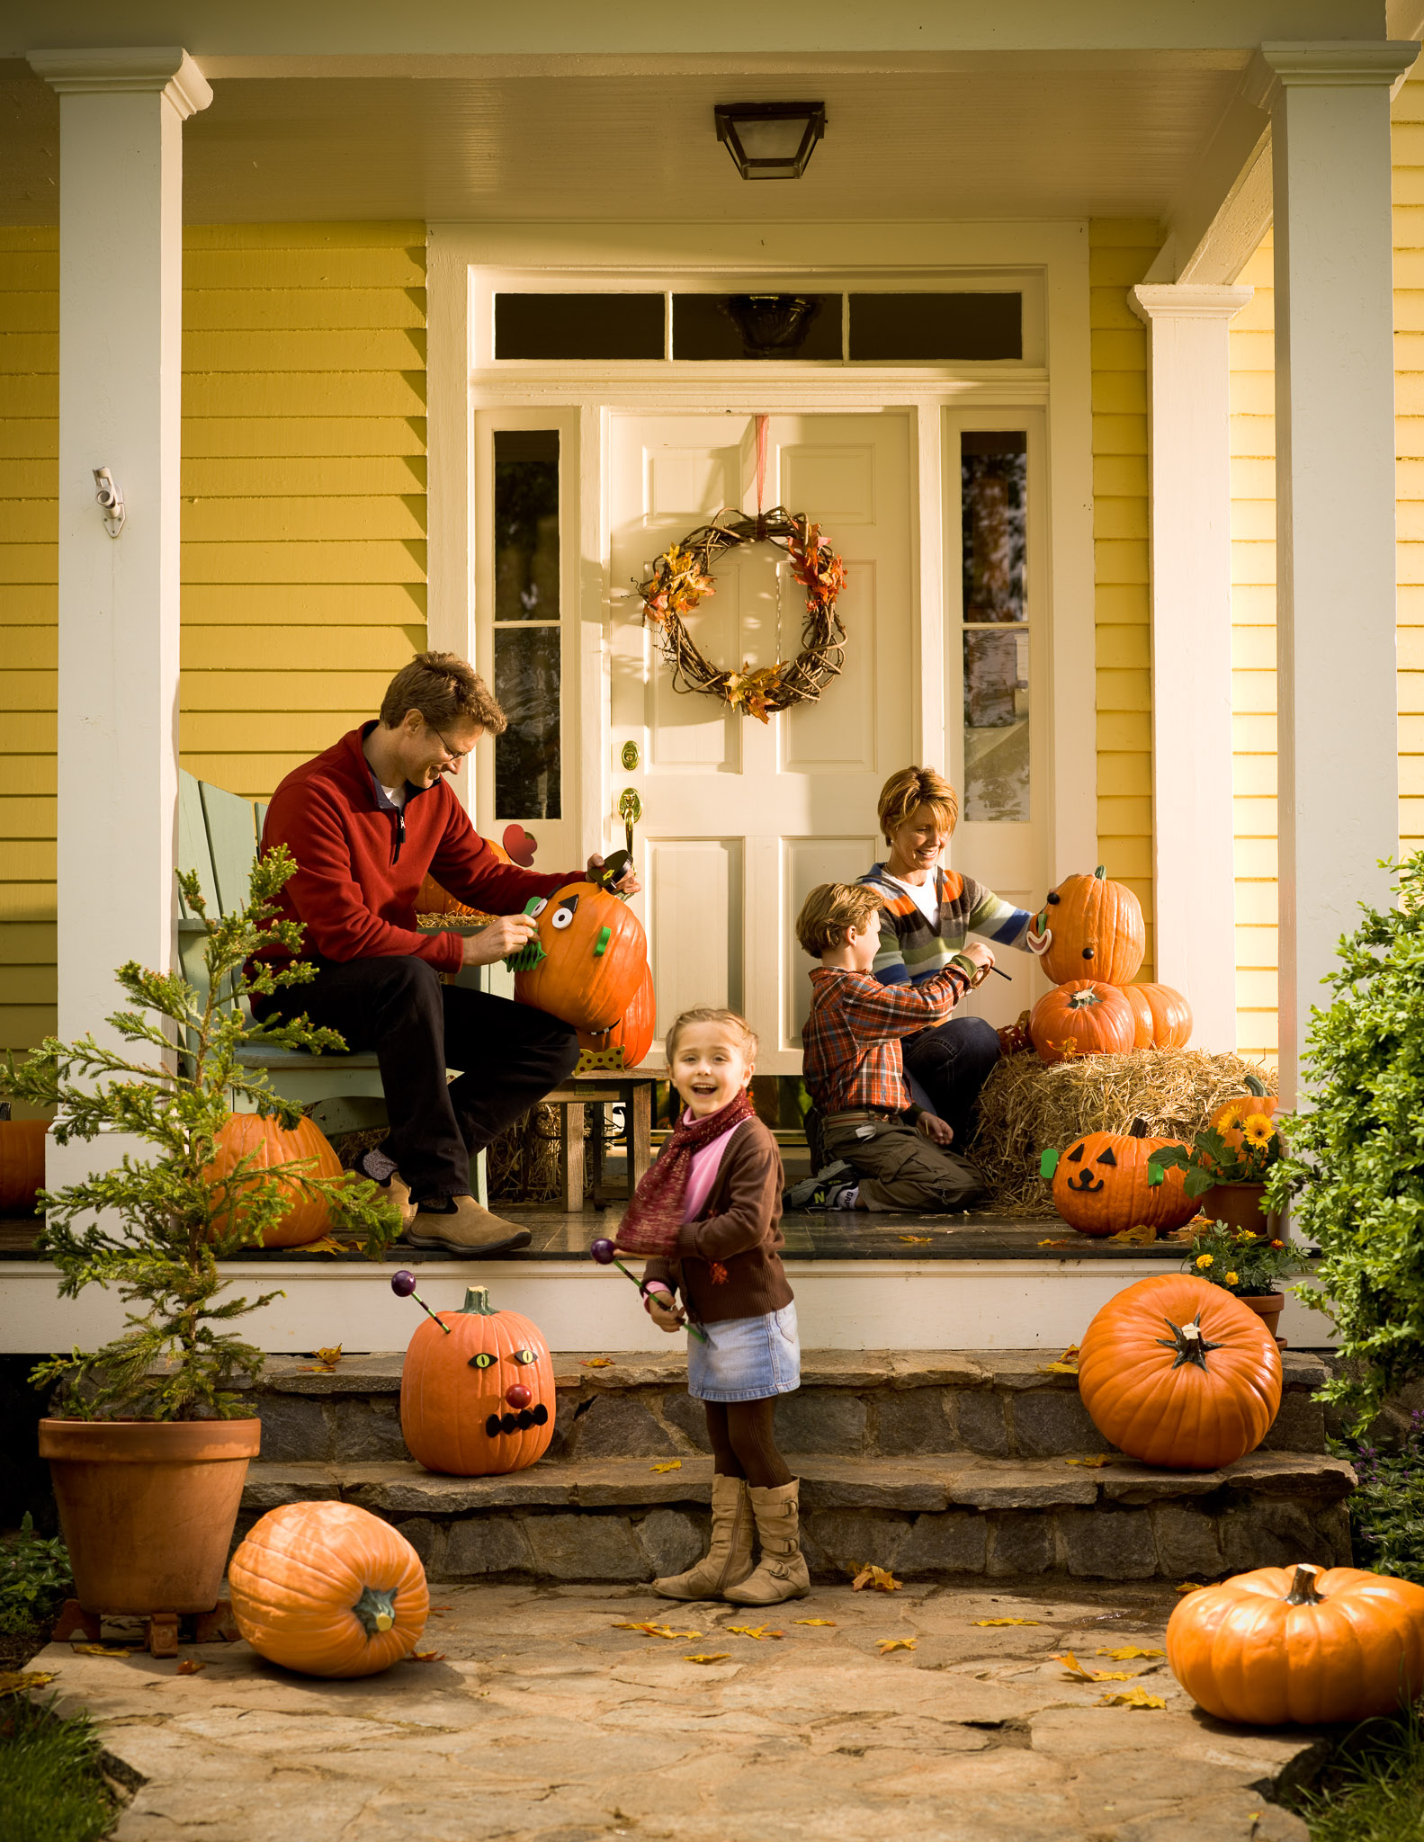
[[53, 1702], [0, 1702], [0, 1836], [6, 1842], [96, 1842], [118, 1811], [85, 1715], [61, 1720]]

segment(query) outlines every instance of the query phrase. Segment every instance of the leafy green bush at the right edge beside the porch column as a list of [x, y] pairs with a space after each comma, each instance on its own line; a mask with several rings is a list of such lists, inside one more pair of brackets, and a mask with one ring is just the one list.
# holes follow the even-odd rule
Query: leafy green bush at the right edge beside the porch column
[[1286, 1120], [1290, 1155], [1267, 1205], [1319, 1243], [1319, 1291], [1343, 1358], [1323, 1398], [1369, 1422], [1424, 1376], [1424, 851], [1398, 871], [1398, 904], [1363, 908], [1339, 943], [1336, 991], [1313, 1009], [1302, 1055], [1308, 1107]]

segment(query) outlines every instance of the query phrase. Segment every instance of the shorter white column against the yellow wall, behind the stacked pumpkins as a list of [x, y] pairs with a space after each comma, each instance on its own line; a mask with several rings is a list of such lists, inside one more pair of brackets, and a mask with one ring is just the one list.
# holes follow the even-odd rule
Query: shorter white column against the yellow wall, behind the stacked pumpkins
[[1212, 1052], [1236, 1048], [1227, 326], [1251, 293], [1127, 297], [1148, 328], [1155, 969]]

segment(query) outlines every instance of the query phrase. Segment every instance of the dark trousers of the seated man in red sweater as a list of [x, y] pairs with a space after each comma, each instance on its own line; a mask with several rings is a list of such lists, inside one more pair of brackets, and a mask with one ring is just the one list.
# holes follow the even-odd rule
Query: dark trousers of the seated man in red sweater
[[[470, 1195], [470, 1159], [573, 1074], [578, 1037], [545, 1011], [464, 985], [442, 985], [424, 960], [315, 960], [309, 985], [286, 985], [263, 1008], [302, 1011], [339, 1030], [350, 1050], [376, 1050], [396, 1160], [416, 1203]], [[446, 1081], [446, 1068], [461, 1068]]]

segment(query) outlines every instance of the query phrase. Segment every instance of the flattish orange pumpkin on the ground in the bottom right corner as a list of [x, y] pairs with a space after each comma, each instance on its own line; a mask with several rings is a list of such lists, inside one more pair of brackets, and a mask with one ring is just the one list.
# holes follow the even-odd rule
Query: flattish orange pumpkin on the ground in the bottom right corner
[[1424, 1586], [1360, 1568], [1256, 1568], [1188, 1593], [1166, 1660], [1218, 1720], [1369, 1720], [1424, 1691]]

